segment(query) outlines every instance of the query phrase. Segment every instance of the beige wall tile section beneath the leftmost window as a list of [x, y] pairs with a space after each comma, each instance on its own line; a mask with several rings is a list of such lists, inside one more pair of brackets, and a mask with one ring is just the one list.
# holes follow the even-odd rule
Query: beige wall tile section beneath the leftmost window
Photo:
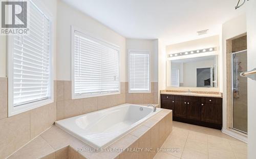
[[51, 104], [7, 118], [8, 78], [0, 78], [0, 90], [0, 158], [5, 158], [53, 125], [56, 98]]

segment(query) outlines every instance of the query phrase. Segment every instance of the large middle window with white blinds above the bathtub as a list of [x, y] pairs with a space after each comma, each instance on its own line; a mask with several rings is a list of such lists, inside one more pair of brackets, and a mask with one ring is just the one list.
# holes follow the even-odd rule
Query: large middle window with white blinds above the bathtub
[[72, 28], [72, 98], [120, 94], [119, 48]]

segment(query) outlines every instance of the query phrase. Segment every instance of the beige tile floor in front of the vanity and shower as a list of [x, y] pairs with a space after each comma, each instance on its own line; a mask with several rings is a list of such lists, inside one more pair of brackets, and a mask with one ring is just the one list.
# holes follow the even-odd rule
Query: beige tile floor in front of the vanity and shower
[[220, 130], [173, 122], [173, 132], [161, 148], [178, 148], [176, 152], [158, 152], [154, 159], [243, 159], [247, 144]]

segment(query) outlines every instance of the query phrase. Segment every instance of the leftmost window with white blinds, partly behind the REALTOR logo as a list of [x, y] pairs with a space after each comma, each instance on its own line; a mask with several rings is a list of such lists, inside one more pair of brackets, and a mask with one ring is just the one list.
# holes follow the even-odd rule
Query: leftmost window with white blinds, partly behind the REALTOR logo
[[29, 34], [8, 37], [9, 116], [53, 102], [51, 20], [35, 4]]

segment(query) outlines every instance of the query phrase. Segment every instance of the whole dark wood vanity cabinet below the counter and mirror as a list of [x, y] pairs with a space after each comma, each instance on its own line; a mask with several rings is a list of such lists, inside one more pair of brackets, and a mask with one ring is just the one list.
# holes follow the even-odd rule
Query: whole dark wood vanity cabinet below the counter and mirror
[[222, 128], [222, 98], [161, 95], [161, 108], [173, 110], [173, 120]]

